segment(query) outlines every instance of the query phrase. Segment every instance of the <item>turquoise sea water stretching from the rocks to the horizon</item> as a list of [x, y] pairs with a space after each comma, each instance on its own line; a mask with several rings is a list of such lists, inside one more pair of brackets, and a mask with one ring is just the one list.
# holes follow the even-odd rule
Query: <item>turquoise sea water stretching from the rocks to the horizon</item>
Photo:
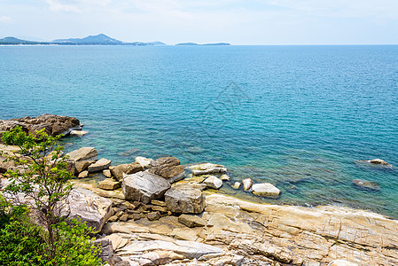
[[266, 202], [395, 218], [398, 170], [355, 160], [398, 166], [397, 91], [398, 46], [0, 47], [0, 118], [77, 117], [90, 134], [69, 150], [221, 163], [231, 182], [276, 184]]

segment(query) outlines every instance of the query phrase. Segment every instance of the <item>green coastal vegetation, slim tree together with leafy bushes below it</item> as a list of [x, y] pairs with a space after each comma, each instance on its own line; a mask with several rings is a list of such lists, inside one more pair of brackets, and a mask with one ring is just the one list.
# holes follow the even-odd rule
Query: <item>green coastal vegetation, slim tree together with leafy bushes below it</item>
[[16, 168], [5, 173], [0, 198], [1, 265], [100, 265], [93, 229], [63, 213], [73, 175], [60, 137], [19, 126], [3, 133], [4, 144], [20, 152], [4, 154]]

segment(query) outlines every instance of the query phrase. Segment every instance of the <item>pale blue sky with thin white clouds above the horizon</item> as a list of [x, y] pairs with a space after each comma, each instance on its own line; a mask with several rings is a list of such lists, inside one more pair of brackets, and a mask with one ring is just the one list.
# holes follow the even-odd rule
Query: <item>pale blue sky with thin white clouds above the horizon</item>
[[0, 38], [398, 44], [397, 0], [0, 0]]

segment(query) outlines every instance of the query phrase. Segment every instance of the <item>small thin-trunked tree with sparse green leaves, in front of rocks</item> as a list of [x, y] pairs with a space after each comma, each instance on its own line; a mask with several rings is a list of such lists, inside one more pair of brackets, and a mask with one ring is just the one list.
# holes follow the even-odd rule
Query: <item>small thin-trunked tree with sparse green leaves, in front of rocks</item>
[[[73, 222], [73, 226], [67, 225], [65, 217], [60, 215], [72, 189], [70, 180], [73, 177], [67, 170], [67, 156], [63, 155], [64, 147], [57, 144], [60, 137], [62, 136], [51, 137], [44, 130], [38, 131], [34, 136], [25, 133], [20, 127], [4, 132], [2, 137], [5, 145], [20, 147], [19, 154], [5, 154], [6, 160], [13, 160], [17, 168], [6, 172], [11, 183], [4, 192], [12, 195], [14, 205], [29, 204], [36, 210], [37, 218], [45, 228], [43, 240], [48, 251], [47, 261], [51, 262], [49, 265], [63, 265], [62, 262], [66, 262], [66, 259], [61, 259], [62, 262], [59, 262], [59, 252], [66, 253], [66, 246], [69, 246], [69, 250], [74, 250], [76, 247], [67, 240], [72, 237], [70, 232], [76, 234], [76, 238], [79, 239], [80, 242], [76, 245], [81, 245], [81, 251], [85, 251], [86, 254], [88, 252], [89, 256], [98, 253], [98, 249], [90, 245], [86, 237], [88, 232], [92, 233], [92, 229], [77, 222]], [[20, 193], [25, 202], [20, 202]], [[26, 200], [29, 198], [32, 200]], [[64, 248], [59, 249], [60, 246]], [[87, 258], [84, 260], [90, 261]], [[75, 265], [96, 265], [96, 263]]]

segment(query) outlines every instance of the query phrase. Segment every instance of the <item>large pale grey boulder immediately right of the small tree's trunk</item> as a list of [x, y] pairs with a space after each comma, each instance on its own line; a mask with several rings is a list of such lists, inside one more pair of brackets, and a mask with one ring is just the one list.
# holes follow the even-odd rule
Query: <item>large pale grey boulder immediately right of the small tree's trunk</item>
[[61, 210], [61, 216], [81, 219], [95, 231], [100, 231], [111, 215], [111, 200], [81, 187], [77, 187], [69, 193], [66, 204], [63, 204]]

